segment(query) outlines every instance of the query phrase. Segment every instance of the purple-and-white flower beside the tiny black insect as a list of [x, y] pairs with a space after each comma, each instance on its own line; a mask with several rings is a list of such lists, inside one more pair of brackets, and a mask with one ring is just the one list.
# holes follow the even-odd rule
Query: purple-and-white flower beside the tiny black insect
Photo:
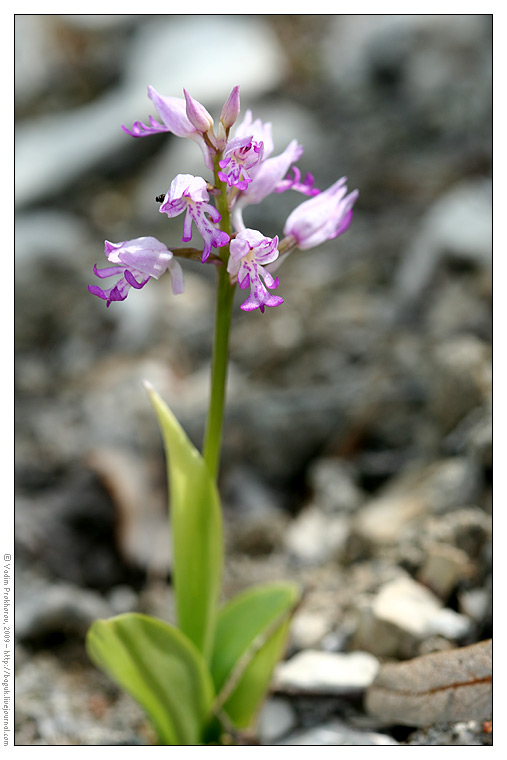
[[202, 177], [194, 177], [193, 174], [178, 174], [171, 182], [171, 187], [160, 207], [161, 213], [167, 214], [171, 219], [186, 211], [182, 240], [187, 243], [192, 239], [192, 222], [194, 222], [204, 240], [203, 262], [208, 260], [212, 248], [221, 248], [229, 242], [229, 235], [214, 226], [220, 221], [221, 216], [208, 201], [206, 181]]

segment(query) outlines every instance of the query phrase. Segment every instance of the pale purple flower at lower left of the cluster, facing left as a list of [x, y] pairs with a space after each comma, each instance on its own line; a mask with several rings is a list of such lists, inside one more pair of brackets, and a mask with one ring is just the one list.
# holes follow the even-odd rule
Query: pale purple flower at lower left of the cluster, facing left
[[107, 301], [108, 307], [113, 301], [124, 301], [131, 287], [140, 290], [150, 277], [158, 280], [168, 269], [171, 272], [173, 293], [183, 293], [181, 266], [174, 259], [172, 251], [157, 238], [141, 237], [125, 240], [123, 243], [110, 243], [106, 240], [104, 253], [114, 266], [97, 269], [95, 265], [93, 271], [97, 277], [103, 279], [114, 275], [122, 276], [109, 290], [102, 290], [98, 285], [88, 285], [88, 290]]

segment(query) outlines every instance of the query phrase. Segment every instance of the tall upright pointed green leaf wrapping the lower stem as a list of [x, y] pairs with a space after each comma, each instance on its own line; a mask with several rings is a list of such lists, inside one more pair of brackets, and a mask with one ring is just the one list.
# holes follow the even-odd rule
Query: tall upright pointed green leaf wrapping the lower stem
[[178, 625], [208, 659], [223, 565], [220, 498], [206, 463], [175, 416], [151, 387], [148, 392], [167, 456]]

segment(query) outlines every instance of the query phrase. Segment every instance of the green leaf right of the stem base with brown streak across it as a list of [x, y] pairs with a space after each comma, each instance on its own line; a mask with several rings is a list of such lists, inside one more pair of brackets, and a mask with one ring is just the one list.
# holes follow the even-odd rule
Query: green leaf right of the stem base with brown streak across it
[[248, 728], [269, 688], [299, 598], [292, 583], [255, 586], [219, 613], [211, 660], [214, 709], [223, 707], [238, 728]]

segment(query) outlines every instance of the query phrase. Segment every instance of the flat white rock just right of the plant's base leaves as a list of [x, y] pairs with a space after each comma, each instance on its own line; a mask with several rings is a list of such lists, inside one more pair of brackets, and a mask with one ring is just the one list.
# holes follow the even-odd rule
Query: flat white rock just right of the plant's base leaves
[[273, 688], [292, 694], [356, 694], [372, 683], [377, 670], [377, 658], [367, 652], [308, 649], [278, 665]]

